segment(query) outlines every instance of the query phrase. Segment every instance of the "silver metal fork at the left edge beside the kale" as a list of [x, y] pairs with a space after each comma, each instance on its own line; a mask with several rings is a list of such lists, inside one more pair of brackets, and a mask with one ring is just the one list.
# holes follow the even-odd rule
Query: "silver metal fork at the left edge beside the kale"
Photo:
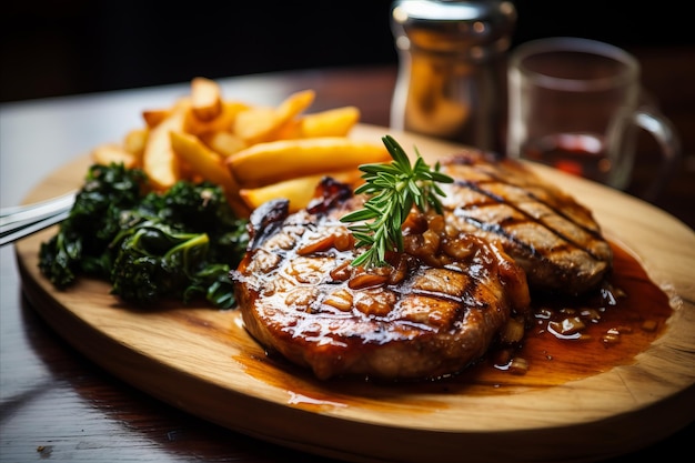
[[54, 225], [68, 218], [77, 192], [28, 205], [0, 209], [0, 246]]

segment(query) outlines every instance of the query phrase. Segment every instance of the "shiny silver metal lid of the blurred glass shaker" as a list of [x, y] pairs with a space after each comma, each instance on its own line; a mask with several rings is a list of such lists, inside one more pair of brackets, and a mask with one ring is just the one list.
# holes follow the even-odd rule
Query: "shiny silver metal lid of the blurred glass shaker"
[[484, 58], [505, 51], [516, 23], [511, 1], [396, 0], [391, 26], [396, 47]]

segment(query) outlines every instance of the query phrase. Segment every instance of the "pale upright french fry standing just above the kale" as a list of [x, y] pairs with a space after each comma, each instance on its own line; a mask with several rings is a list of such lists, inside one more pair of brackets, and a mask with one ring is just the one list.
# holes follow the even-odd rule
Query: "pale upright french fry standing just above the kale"
[[157, 190], [168, 190], [181, 180], [181, 165], [171, 147], [169, 132], [183, 131], [185, 112], [190, 105], [189, 99], [179, 100], [169, 117], [150, 130], [142, 153], [142, 169]]

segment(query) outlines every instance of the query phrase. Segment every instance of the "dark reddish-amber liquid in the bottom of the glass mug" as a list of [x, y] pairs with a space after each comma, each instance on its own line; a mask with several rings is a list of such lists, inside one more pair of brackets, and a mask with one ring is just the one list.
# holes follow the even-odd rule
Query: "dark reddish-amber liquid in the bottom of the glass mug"
[[528, 141], [522, 158], [557, 170], [605, 182], [611, 170], [605, 143], [595, 133], [554, 133]]

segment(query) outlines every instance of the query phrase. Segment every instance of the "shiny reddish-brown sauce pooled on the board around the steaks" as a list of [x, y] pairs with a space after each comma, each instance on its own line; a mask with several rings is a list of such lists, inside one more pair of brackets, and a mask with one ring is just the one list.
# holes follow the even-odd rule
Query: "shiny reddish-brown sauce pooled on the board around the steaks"
[[[291, 403], [304, 403], [310, 407], [323, 402], [344, 405], [345, 401], [351, 402], [349, 397], [354, 393], [363, 400], [374, 394], [379, 396], [385, 390], [405, 395], [491, 395], [551, 387], [593, 376], [615, 366], [634, 363], [635, 356], [664, 333], [666, 321], [673, 313], [667, 294], [649, 280], [639, 262], [620, 245], [611, 245], [614, 270], [607, 282], [614, 289], [613, 294], [620, 293], [621, 296], [613, 303], [607, 303], [608, 300], [600, 291], [586, 298], [564, 300], [534, 296], [532, 306], [535, 316], [532, 326], [514, 353], [528, 365], [523, 373], [495, 365], [500, 353], [494, 349], [477, 364], [452, 378], [387, 384], [364, 379], [321, 382], [310, 371], [272, 355], [252, 354], [234, 360], [252, 376], [285, 389]], [[561, 339], [548, 330], [547, 309], [555, 314], [591, 310], [594, 319], [596, 313], [600, 318], [586, 323], [582, 339]]]

